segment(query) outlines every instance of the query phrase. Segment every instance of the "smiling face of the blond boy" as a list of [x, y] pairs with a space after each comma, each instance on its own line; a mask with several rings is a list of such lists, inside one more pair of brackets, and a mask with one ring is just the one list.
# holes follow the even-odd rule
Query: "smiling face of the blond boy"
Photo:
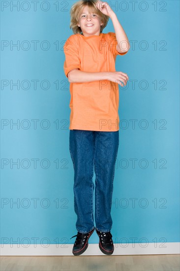
[[90, 12], [88, 6], [85, 6], [79, 16], [79, 26], [84, 36], [99, 35], [100, 27], [103, 25], [99, 15]]

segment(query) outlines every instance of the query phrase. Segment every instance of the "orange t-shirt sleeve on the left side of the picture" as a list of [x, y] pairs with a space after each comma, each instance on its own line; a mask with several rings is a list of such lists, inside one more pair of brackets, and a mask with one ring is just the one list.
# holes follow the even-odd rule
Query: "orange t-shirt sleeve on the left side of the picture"
[[63, 50], [65, 54], [65, 61], [64, 61], [64, 73], [67, 76], [67, 73], [73, 68], [81, 68], [81, 63], [79, 60], [79, 52], [78, 52], [78, 43], [75, 39], [75, 34], [68, 37], [66, 40]]

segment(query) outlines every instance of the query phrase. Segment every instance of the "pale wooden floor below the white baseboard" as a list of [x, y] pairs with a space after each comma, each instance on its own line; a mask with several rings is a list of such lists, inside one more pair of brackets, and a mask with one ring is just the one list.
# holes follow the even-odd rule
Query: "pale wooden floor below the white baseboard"
[[180, 254], [1, 256], [0, 271], [180, 271]]

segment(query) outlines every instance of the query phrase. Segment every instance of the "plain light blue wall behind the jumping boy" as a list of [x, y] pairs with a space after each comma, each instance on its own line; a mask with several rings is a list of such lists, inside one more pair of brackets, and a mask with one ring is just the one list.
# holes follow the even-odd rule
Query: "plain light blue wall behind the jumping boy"
[[[77, 234], [69, 154], [70, 93], [62, 46], [73, 34], [69, 11], [75, 1], [40, 1], [36, 11], [31, 1], [27, 11], [27, 4], [17, 11], [5, 2], [9, 6], [1, 10], [5, 44], [1, 46], [1, 237], [7, 242], [11, 237], [20, 241], [28, 237], [33, 243], [37, 237], [37, 243], [74, 243], [75, 238], [70, 240]], [[130, 1], [110, 5], [131, 43], [130, 51], [116, 60], [116, 69], [127, 73], [129, 82], [120, 87], [113, 240], [179, 242], [180, 2], [138, 1], [135, 9]], [[103, 31], [108, 32], [115, 32], [111, 19]], [[33, 40], [38, 40], [36, 50]], [[49, 49], [43, 41], [48, 41]], [[19, 42], [20, 47], [11, 47], [10, 42]], [[11, 80], [19, 80], [19, 87], [11, 86]], [[38, 80], [36, 88], [32, 80]], [[96, 242], [93, 234], [90, 243]]]

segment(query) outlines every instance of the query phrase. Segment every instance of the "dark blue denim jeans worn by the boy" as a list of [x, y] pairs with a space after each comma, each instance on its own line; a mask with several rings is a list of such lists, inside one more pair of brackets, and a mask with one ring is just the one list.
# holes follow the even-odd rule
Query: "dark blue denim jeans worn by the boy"
[[70, 130], [69, 151], [74, 168], [76, 229], [89, 233], [94, 228], [93, 169], [95, 172], [95, 224], [101, 232], [112, 228], [111, 205], [119, 131]]

